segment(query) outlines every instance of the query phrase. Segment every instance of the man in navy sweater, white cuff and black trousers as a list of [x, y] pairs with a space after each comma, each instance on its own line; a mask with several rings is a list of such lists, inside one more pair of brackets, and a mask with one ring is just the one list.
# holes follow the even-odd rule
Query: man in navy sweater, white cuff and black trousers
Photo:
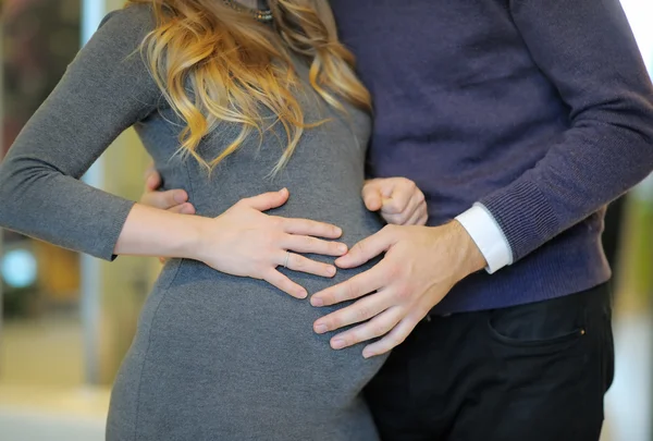
[[385, 253], [311, 297], [355, 301], [316, 332], [394, 348], [366, 390], [385, 441], [597, 440], [604, 206], [653, 170], [653, 88], [618, 0], [331, 4], [374, 99], [369, 173], [412, 180], [430, 218], [337, 259]]

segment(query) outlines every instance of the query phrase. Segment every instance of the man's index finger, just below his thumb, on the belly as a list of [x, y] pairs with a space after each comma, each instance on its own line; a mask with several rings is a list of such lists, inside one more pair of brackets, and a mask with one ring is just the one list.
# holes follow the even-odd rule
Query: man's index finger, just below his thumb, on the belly
[[379, 264], [372, 269], [361, 272], [346, 282], [316, 293], [310, 298], [310, 304], [312, 306], [329, 306], [358, 298], [379, 290], [384, 285], [384, 269], [383, 266]]

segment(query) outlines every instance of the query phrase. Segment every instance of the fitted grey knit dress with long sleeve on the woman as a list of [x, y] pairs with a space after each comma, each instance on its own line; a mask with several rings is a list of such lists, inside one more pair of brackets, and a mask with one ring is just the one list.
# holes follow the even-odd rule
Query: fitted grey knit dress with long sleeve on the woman
[[[79, 52], [0, 169], [0, 225], [112, 259], [134, 203], [78, 180], [135, 126], [165, 187], [186, 189], [199, 216], [219, 216], [244, 197], [286, 186], [291, 198], [278, 216], [337, 224], [349, 246], [379, 230], [360, 198], [370, 119], [352, 107], [344, 117], [325, 106], [300, 62], [298, 99], [307, 121], [330, 121], [306, 131], [274, 180], [267, 175], [285, 146], [281, 130], [267, 133], [260, 148], [258, 136], [247, 139], [210, 177], [196, 161], [175, 156], [181, 121], [134, 53], [152, 24], [147, 7], [115, 12]], [[214, 158], [238, 131], [221, 124], [200, 154]], [[367, 268], [340, 270], [333, 280], [286, 273], [315, 293]], [[332, 335], [312, 331], [331, 310], [263, 281], [170, 260], [115, 379], [107, 439], [374, 441], [360, 392], [384, 358], [364, 359], [360, 345], [331, 350]]]

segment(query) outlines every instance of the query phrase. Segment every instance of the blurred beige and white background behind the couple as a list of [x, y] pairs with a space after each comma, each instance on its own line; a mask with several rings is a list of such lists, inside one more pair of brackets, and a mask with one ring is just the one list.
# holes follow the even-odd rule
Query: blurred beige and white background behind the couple
[[[0, 159], [122, 2], [0, 0]], [[653, 1], [623, 5], [653, 72]], [[137, 199], [147, 162], [128, 131], [85, 180]], [[609, 207], [604, 242], [615, 270], [617, 362], [603, 438], [652, 441], [653, 179]], [[110, 385], [158, 269], [155, 259], [109, 265], [0, 234], [0, 441], [103, 440]]]

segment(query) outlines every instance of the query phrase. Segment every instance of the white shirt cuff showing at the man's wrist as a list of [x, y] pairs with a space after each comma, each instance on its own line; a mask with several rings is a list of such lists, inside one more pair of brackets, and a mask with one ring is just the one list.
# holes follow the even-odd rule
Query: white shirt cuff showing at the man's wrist
[[498, 223], [482, 204], [475, 204], [469, 210], [456, 217], [485, 258], [485, 271], [492, 274], [513, 264], [513, 250]]

